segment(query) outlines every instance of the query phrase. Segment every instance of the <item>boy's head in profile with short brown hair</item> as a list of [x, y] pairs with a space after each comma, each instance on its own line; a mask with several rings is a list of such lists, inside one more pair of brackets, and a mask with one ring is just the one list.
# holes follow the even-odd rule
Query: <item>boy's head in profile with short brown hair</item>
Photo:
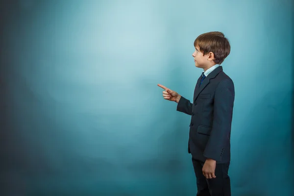
[[195, 52], [192, 54], [195, 66], [205, 71], [215, 64], [221, 65], [229, 55], [231, 47], [224, 34], [218, 31], [199, 35], [194, 41]]

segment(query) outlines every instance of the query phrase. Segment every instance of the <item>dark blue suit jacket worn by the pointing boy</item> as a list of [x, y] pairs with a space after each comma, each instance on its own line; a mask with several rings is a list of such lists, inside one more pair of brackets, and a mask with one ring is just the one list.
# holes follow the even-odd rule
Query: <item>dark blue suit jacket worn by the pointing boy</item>
[[199, 77], [193, 103], [181, 97], [177, 111], [191, 115], [188, 152], [196, 160], [211, 158], [230, 162], [230, 135], [235, 99], [232, 79], [222, 67], [208, 74], [201, 86]]

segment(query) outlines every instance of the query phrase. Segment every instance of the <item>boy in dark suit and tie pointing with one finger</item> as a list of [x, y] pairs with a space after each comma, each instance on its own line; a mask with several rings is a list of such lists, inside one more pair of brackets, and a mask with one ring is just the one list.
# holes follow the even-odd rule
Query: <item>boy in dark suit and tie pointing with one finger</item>
[[230, 135], [235, 99], [231, 78], [221, 63], [230, 53], [229, 41], [221, 32], [199, 35], [192, 54], [203, 73], [196, 83], [193, 102], [165, 89], [163, 97], [177, 103], [177, 111], [191, 115], [188, 152], [196, 174], [197, 196], [230, 196]]

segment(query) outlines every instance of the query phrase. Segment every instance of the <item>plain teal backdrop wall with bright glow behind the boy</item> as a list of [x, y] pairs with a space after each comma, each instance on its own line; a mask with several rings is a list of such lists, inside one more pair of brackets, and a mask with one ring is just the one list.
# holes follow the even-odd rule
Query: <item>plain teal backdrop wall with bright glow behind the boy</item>
[[194, 196], [195, 38], [222, 31], [235, 83], [232, 196], [293, 196], [291, 0], [0, 4], [1, 196]]

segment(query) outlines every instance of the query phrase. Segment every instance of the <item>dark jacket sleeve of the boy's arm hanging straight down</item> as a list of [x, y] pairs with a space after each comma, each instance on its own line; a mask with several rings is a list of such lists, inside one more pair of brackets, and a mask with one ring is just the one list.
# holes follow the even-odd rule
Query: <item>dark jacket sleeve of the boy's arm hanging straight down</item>
[[203, 156], [221, 161], [224, 148], [230, 142], [235, 89], [232, 80], [222, 80], [214, 97], [212, 130]]

